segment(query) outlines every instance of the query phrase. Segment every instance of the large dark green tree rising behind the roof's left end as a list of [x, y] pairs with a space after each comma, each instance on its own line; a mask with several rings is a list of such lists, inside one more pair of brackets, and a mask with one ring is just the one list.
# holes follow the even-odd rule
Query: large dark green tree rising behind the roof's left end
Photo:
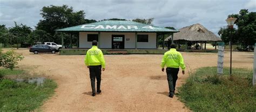
[[[44, 6], [41, 10], [41, 15], [43, 20], [39, 21], [36, 29], [49, 33], [50, 36], [48, 35], [48, 37], [51, 39], [48, 40], [56, 43], [61, 42], [61, 38], [56, 35], [56, 29], [96, 22], [96, 20], [85, 19], [85, 12], [83, 10], [74, 12], [73, 8], [69, 8], [68, 5]], [[41, 40], [44, 41], [44, 39]]]

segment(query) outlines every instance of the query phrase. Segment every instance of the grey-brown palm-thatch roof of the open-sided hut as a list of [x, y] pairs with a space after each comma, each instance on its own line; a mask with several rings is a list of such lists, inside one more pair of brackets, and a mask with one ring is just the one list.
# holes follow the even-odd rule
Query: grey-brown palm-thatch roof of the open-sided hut
[[[218, 36], [216, 36], [211, 31], [208, 31], [204, 26], [200, 24], [194, 24], [191, 26], [186, 26], [179, 29], [180, 32], [173, 34], [173, 40], [186, 40], [186, 41], [221, 41]], [[172, 36], [169, 36], [165, 39], [168, 41], [172, 39]]]

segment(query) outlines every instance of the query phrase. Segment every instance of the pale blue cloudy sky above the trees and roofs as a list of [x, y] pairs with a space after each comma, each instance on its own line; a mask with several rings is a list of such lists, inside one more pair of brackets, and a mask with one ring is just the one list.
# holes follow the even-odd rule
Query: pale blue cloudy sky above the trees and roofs
[[228, 14], [256, 12], [256, 0], [0, 0], [0, 25], [12, 27], [16, 21], [35, 28], [43, 6], [64, 4], [84, 10], [86, 19], [154, 18], [154, 26], [176, 29], [199, 23], [216, 35]]

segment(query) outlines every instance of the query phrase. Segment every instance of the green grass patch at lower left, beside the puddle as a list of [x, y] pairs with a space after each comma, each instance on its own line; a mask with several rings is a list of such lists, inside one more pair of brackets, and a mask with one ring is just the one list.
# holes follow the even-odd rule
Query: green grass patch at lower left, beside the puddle
[[[23, 70], [0, 69], [3, 76], [24, 73]], [[32, 111], [54, 94], [57, 84], [46, 79], [43, 86], [17, 83], [10, 79], [0, 79], [0, 111]]]

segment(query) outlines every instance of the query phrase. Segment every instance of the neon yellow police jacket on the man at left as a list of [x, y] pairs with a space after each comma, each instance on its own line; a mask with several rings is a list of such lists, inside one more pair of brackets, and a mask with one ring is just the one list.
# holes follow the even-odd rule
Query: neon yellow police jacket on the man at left
[[102, 50], [98, 49], [97, 46], [92, 46], [91, 49], [87, 50], [84, 63], [87, 66], [102, 65], [102, 68], [105, 68], [105, 59]]

